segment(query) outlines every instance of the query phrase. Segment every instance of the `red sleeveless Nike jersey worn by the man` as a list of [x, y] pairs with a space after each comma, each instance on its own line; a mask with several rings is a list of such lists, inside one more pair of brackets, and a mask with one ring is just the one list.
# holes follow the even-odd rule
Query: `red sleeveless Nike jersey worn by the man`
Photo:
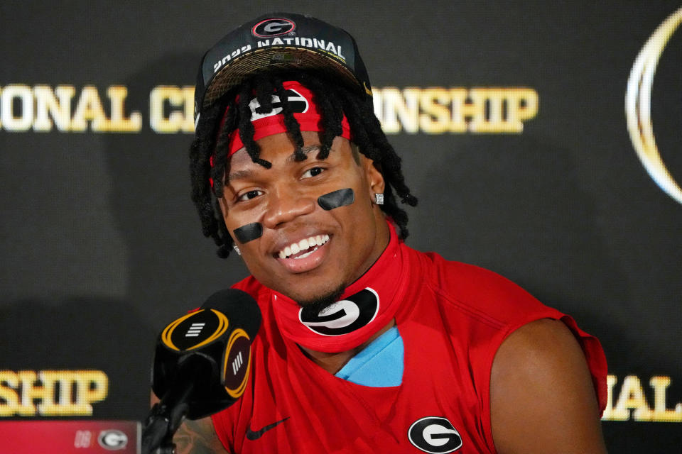
[[212, 416], [230, 453], [494, 453], [490, 371], [499, 345], [534, 320], [561, 319], [578, 338], [600, 409], [606, 360], [599, 341], [520, 287], [479, 267], [401, 244], [408, 266], [396, 314], [404, 343], [397, 387], [366, 387], [326, 372], [283, 338], [271, 290], [253, 277], [263, 325], [239, 401]]

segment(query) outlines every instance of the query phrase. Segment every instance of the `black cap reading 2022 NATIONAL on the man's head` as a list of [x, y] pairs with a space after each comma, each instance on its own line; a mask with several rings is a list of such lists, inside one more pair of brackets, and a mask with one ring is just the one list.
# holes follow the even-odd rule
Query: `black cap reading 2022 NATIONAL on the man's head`
[[372, 98], [354, 38], [308, 15], [269, 13], [242, 24], [205, 53], [194, 94], [194, 117], [251, 74], [318, 70]]

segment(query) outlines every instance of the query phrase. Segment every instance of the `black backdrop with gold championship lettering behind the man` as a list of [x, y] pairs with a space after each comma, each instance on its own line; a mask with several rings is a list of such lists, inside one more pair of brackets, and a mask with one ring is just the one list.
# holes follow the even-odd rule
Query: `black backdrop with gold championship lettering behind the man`
[[[246, 275], [238, 258], [218, 259], [201, 236], [188, 196], [191, 121], [164, 133], [154, 119], [181, 116], [182, 101], [158, 104], [151, 94], [192, 86], [202, 52], [227, 28], [281, 6], [58, 4], [0, 4], [0, 421], [142, 419], [156, 333]], [[378, 106], [383, 121], [406, 106], [389, 139], [421, 199], [408, 243], [499, 272], [600, 338], [613, 383], [604, 431], [614, 453], [682, 448], [682, 200], [646, 172], [624, 109], [637, 55], [680, 6], [286, 4], [355, 36], [387, 103]], [[650, 106], [662, 160], [682, 182], [682, 27], [671, 33]], [[50, 96], [69, 99], [69, 87], [70, 107], [45, 108]], [[111, 96], [109, 87], [118, 87]], [[433, 87], [470, 98], [475, 88], [499, 88], [499, 96], [522, 88], [530, 116], [517, 132], [493, 124], [434, 133], [429, 125], [447, 123], [461, 106], [438, 101], [447, 115], [429, 116], [433, 102], [423, 98]], [[537, 111], [529, 110], [534, 95]], [[424, 104], [411, 104], [415, 96]], [[107, 119], [124, 124], [115, 121], [116, 99], [134, 131], [102, 131]], [[49, 370], [102, 371], [107, 397], [91, 412], [62, 406], [50, 414], [30, 391], [45, 386]], [[63, 394], [55, 399], [70, 398]]]

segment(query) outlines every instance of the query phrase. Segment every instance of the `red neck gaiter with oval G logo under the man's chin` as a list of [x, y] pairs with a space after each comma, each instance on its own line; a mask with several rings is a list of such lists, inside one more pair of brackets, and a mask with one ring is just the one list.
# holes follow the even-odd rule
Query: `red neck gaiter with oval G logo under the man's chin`
[[389, 245], [377, 262], [323, 311], [311, 313], [273, 292], [273, 310], [284, 337], [311, 350], [339, 353], [362, 345], [394, 319], [406, 287], [407, 264], [390, 222], [389, 229]]

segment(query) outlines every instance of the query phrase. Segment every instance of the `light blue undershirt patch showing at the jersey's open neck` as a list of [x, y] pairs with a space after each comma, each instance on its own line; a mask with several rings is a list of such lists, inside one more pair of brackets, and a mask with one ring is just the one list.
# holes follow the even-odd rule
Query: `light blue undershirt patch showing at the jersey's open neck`
[[403, 357], [403, 338], [394, 326], [351, 358], [336, 377], [363, 386], [399, 386], [403, 382]]

